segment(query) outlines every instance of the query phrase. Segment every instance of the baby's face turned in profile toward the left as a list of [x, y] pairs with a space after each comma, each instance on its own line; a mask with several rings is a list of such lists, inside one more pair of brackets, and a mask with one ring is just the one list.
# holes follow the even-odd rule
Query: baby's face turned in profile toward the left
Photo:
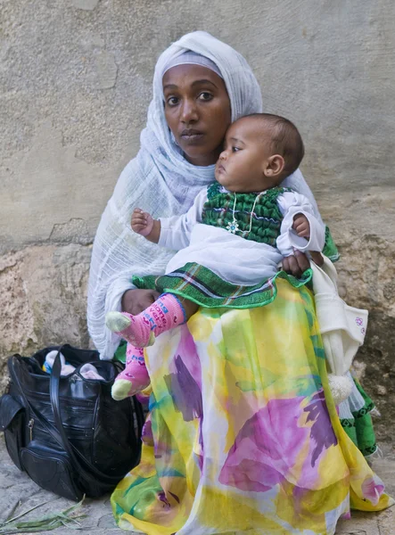
[[244, 117], [226, 132], [224, 150], [220, 153], [215, 177], [219, 184], [236, 193], [262, 192], [276, 185], [265, 176], [267, 161], [272, 156], [271, 137], [258, 119]]

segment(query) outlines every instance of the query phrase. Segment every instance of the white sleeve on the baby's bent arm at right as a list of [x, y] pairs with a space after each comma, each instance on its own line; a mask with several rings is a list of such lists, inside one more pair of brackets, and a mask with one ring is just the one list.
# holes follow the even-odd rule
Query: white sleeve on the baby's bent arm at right
[[[322, 251], [325, 243], [325, 225], [314, 215], [314, 209], [309, 199], [296, 192], [284, 192], [277, 199], [278, 207], [284, 219], [281, 224], [280, 235], [277, 238], [277, 249], [284, 257], [299, 251]], [[293, 218], [296, 214], [303, 214], [309, 221], [310, 238], [298, 236], [292, 229]]]

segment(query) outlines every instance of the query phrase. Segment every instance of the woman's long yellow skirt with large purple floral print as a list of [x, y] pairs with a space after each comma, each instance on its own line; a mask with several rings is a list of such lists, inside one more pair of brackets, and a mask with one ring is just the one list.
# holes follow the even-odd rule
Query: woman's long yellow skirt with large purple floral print
[[[188, 330], [189, 328], [189, 330]], [[201, 309], [146, 351], [140, 465], [111, 497], [150, 535], [328, 535], [393, 502], [342, 428], [306, 287], [257, 309]]]

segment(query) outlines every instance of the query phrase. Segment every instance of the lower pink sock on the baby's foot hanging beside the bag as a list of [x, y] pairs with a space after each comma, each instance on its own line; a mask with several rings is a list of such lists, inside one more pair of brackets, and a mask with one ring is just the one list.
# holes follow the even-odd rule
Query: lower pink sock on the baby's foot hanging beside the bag
[[117, 375], [112, 385], [112, 398], [120, 401], [120, 399], [134, 396], [149, 384], [150, 376], [144, 362], [144, 350], [128, 343], [126, 367]]

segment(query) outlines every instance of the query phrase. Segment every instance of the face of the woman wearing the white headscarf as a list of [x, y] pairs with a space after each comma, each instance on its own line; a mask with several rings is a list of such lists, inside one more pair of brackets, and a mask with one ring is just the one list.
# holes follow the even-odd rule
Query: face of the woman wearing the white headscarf
[[185, 159], [215, 163], [231, 122], [224, 80], [201, 65], [177, 65], [163, 76], [163, 95], [166, 121]]

